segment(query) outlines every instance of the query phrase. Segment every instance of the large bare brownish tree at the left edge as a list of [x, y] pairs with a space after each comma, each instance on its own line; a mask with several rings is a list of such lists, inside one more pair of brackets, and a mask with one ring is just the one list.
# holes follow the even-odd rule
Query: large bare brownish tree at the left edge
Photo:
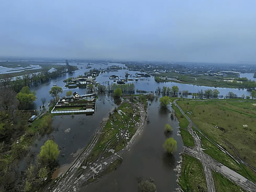
[[0, 88], [0, 106], [8, 111], [10, 108], [15, 109], [16, 106], [16, 93], [12, 88]]

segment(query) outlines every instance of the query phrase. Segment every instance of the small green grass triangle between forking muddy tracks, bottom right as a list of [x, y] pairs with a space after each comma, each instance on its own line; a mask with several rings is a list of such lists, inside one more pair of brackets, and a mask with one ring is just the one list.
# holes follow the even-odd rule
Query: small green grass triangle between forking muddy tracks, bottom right
[[216, 192], [244, 192], [240, 186], [223, 177], [220, 173], [212, 171], [212, 177]]

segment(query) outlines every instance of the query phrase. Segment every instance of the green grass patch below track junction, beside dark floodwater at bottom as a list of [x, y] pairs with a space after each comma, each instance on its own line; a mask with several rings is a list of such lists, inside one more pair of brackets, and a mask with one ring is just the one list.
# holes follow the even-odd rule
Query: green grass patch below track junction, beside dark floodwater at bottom
[[207, 191], [203, 165], [199, 160], [182, 154], [182, 171], [179, 185], [183, 191]]

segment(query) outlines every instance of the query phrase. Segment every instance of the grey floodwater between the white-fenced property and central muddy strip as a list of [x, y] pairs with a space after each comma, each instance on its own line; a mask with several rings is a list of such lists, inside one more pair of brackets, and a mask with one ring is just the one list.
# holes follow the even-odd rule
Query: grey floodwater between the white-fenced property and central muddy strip
[[[54, 116], [52, 121], [54, 131], [51, 134], [45, 134], [43, 137], [38, 136], [31, 148], [32, 153], [39, 154], [44, 142], [53, 139], [60, 149], [58, 163], [60, 165], [72, 163], [76, 158], [73, 154], [86, 146], [94, 132], [99, 128], [102, 119], [108, 117], [109, 112], [115, 107], [116, 104], [112, 98], [99, 94], [93, 115]], [[36, 156], [24, 158], [19, 164], [18, 171], [24, 171], [27, 163], [35, 162]]]

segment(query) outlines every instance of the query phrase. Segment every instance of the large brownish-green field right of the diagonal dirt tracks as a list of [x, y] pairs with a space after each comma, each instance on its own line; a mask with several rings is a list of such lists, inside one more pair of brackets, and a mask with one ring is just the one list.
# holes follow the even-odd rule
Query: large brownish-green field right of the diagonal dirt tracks
[[234, 154], [231, 144], [244, 161], [256, 167], [256, 106], [252, 102], [179, 100], [177, 104], [185, 113], [192, 111], [188, 116], [209, 138]]

